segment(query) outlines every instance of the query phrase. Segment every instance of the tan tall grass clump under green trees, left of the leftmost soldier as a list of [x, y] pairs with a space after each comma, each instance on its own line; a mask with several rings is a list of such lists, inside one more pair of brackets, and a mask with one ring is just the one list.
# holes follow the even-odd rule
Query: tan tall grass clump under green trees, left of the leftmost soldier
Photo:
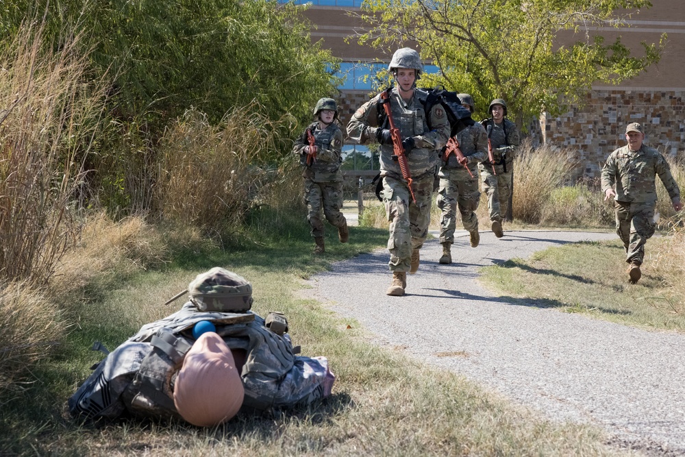
[[277, 125], [234, 109], [219, 125], [190, 109], [160, 142], [156, 210], [163, 219], [223, 232], [264, 203], [277, 168], [266, 158], [278, 144]]

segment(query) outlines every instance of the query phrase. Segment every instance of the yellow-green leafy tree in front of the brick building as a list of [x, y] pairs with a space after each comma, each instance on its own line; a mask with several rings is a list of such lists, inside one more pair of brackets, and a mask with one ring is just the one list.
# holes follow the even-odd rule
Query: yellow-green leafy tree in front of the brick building
[[[666, 36], [643, 42], [636, 56], [620, 36], [606, 42], [591, 32], [618, 27], [625, 11], [650, 6], [647, 0], [366, 0], [362, 16], [371, 30], [360, 42], [389, 49], [417, 42], [421, 57], [441, 71], [423, 86], [471, 93], [482, 101], [482, 117], [486, 103], [506, 99], [521, 127], [540, 112], [556, 115], [582, 104], [595, 82], [619, 84], [658, 62]], [[577, 41], [560, 45], [562, 35]]]

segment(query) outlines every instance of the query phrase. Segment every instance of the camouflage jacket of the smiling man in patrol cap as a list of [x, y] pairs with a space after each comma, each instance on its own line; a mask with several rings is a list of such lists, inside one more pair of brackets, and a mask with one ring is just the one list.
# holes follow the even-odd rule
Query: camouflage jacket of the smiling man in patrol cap
[[616, 186], [616, 201], [648, 203], [656, 201], [656, 175], [671, 200], [680, 199], [680, 189], [671, 175], [671, 166], [659, 151], [643, 145], [631, 151], [627, 145], [613, 151], [601, 171], [601, 190]]

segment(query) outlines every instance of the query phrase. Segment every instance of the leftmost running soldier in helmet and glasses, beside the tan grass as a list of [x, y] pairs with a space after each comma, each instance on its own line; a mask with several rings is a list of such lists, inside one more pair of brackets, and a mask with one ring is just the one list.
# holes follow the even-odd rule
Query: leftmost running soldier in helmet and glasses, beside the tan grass
[[[321, 208], [326, 220], [338, 227], [340, 243], [347, 243], [349, 230], [347, 221], [340, 210], [343, 208], [343, 132], [334, 123], [338, 116], [338, 106], [334, 99], [320, 99], [314, 107], [314, 116], [318, 119], [312, 123], [300, 138], [295, 141], [292, 152], [300, 157], [305, 166], [304, 193], [307, 203], [307, 221], [312, 226], [312, 236], [316, 247], [314, 254], [323, 254], [323, 221]], [[314, 136], [315, 145], [309, 145], [308, 132]]]

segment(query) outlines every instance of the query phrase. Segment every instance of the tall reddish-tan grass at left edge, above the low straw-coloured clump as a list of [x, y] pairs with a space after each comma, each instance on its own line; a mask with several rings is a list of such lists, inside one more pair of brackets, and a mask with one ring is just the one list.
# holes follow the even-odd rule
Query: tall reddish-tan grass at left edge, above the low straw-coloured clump
[[[58, 51], [25, 25], [0, 54], [0, 277], [45, 284], [74, 234], [69, 198], [82, 180], [101, 97], [86, 80], [79, 37]], [[97, 87], [95, 87], [97, 88]]]

